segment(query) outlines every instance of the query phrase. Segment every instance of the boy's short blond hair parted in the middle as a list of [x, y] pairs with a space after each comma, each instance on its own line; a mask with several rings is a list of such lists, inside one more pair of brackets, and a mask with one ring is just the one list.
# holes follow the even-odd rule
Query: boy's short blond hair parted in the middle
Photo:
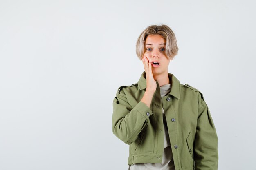
[[174, 56], [178, 54], [178, 46], [175, 34], [167, 25], [151, 25], [148, 26], [137, 39], [136, 54], [141, 60], [145, 53], [145, 41], [148, 35], [159, 34], [166, 40], [166, 55], [170, 60], [173, 60]]

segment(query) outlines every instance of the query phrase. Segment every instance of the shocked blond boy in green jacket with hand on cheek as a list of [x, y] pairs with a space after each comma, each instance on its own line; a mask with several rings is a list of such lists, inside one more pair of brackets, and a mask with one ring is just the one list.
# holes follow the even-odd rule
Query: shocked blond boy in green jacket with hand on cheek
[[137, 40], [144, 72], [113, 100], [112, 131], [130, 146], [128, 170], [218, 168], [218, 137], [202, 93], [168, 73], [177, 51], [166, 25], [148, 26]]

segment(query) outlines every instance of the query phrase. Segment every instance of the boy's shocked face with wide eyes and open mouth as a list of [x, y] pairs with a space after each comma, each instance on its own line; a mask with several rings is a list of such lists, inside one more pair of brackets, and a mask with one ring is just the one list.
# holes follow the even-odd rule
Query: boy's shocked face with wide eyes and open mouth
[[[166, 40], [164, 40], [162, 35], [148, 35], [146, 38], [143, 56], [148, 58], [148, 61], [152, 66], [153, 75], [168, 73], [168, 66], [171, 59], [167, 57], [165, 47]], [[155, 65], [153, 62], [158, 62], [159, 65]]]

